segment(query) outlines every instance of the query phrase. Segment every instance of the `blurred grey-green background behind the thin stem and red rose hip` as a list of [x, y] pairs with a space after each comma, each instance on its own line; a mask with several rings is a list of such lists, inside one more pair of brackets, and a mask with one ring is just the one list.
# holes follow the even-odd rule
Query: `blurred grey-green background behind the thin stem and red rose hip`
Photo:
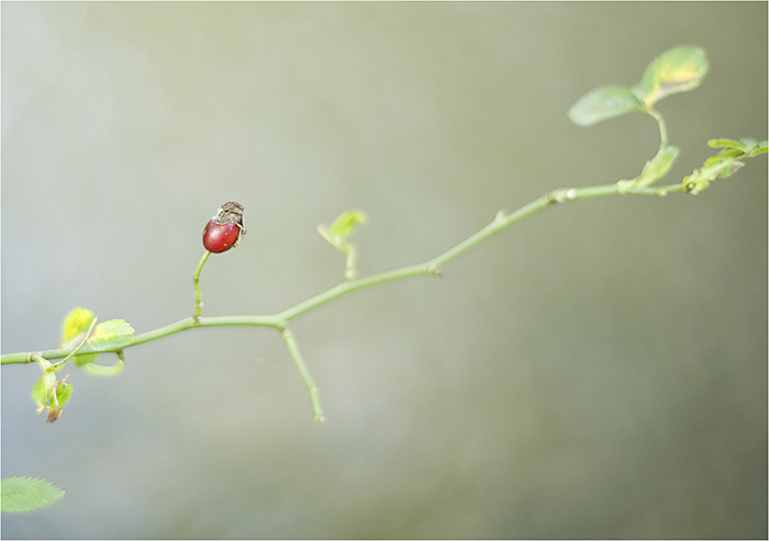
[[[270, 314], [427, 260], [501, 206], [631, 178], [635, 114], [586, 91], [703, 46], [660, 104], [680, 179], [712, 137], [767, 135], [767, 4], [2, 4], [2, 351], [74, 306], [138, 333], [191, 314], [208, 218], [246, 206], [204, 313]], [[293, 325], [330, 421], [269, 329], [202, 329], [68, 367], [2, 369], [2, 475], [66, 491], [4, 538], [766, 538], [767, 166], [696, 198], [545, 211], [445, 271]], [[112, 359], [105, 359], [111, 362]]]

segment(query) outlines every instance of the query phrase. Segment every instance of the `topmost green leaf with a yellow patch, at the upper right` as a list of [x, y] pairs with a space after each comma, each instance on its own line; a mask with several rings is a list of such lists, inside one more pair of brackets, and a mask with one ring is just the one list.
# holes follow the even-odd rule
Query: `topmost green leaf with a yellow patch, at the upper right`
[[638, 90], [647, 106], [662, 98], [700, 86], [707, 74], [707, 58], [700, 47], [673, 47], [648, 65]]

